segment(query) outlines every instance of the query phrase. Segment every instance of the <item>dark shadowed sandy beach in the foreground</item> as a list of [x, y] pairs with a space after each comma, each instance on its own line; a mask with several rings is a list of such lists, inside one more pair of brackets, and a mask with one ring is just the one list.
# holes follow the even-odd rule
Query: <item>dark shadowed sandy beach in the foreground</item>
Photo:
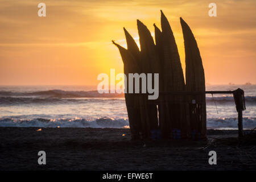
[[[254, 137], [208, 130], [208, 142], [131, 141], [129, 129], [0, 127], [0, 170], [255, 170]], [[46, 165], [38, 152], [46, 151]], [[217, 165], [209, 165], [209, 151]]]

